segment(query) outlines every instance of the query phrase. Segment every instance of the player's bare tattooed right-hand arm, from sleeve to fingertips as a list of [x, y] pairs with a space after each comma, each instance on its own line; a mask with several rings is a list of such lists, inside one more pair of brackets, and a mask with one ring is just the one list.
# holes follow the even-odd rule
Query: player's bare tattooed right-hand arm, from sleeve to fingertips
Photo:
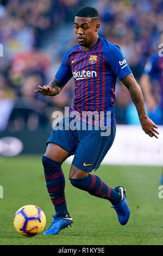
[[133, 74], [131, 73], [127, 75], [121, 80], [121, 82], [129, 90], [131, 100], [134, 102], [137, 109], [143, 131], [145, 131], [145, 133], [147, 133], [150, 137], [154, 136], [158, 138], [158, 136], [156, 136], [156, 133], [159, 134], [159, 132], [156, 131], [158, 126], [156, 126], [153, 121], [147, 117], [142, 91]]

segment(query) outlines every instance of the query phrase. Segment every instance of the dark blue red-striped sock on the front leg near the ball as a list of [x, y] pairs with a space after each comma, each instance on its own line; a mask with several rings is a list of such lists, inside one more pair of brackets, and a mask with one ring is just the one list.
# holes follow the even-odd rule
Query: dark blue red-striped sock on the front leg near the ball
[[45, 173], [46, 187], [57, 217], [68, 214], [65, 198], [65, 176], [61, 169], [61, 163], [42, 156], [42, 164]]

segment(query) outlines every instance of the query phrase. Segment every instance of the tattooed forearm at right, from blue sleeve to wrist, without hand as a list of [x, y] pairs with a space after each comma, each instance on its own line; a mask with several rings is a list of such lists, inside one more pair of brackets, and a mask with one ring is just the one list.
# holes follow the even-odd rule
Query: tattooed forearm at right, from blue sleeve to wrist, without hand
[[128, 76], [124, 77], [121, 82], [124, 86], [127, 87], [129, 90], [131, 100], [134, 102], [135, 107], [137, 109], [137, 113], [139, 114], [139, 118], [146, 118], [146, 108], [145, 102], [143, 100], [143, 95], [139, 84], [136, 82], [133, 74], [129, 74]]

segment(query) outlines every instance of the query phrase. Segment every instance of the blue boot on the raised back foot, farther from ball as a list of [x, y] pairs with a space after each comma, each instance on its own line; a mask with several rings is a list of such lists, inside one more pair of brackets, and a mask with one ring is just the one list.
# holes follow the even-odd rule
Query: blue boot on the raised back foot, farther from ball
[[120, 224], [126, 225], [130, 217], [130, 209], [126, 200], [126, 190], [121, 186], [115, 187], [115, 190], [120, 192], [121, 201], [117, 205], [113, 205], [111, 207], [116, 210]]

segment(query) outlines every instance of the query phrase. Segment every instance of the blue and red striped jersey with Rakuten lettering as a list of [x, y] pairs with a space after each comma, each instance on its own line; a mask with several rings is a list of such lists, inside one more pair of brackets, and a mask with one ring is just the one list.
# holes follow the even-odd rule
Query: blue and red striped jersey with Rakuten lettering
[[[110, 113], [110, 126], [114, 126], [116, 79], [122, 80], [130, 73], [120, 47], [99, 37], [87, 51], [79, 44], [68, 50], [55, 78], [61, 83], [74, 78], [75, 98], [70, 112], [103, 112], [104, 117]], [[106, 120], [104, 126], [108, 126]]]

